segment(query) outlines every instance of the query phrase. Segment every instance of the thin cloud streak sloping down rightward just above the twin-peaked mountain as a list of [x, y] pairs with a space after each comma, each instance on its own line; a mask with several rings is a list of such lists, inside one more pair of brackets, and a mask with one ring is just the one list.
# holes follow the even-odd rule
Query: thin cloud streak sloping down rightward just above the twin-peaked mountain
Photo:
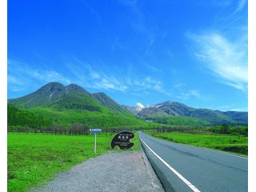
[[[75, 64], [74, 62], [77, 63]], [[71, 63], [73, 64], [71, 65]], [[150, 76], [138, 78], [134, 73], [123, 74], [120, 73], [122, 69], [118, 68], [118, 66], [108, 66], [108, 70], [104, 70], [104, 67], [101, 65], [101, 69], [98, 69], [97, 65], [82, 62], [78, 58], [75, 58], [73, 62], [66, 62], [66, 66], [71, 74], [73, 74], [76, 83], [95, 90], [130, 91], [131, 94], [139, 95], [151, 90], [170, 95], [164, 89], [163, 83], [160, 80]], [[90, 76], [86, 74], [90, 74]]]

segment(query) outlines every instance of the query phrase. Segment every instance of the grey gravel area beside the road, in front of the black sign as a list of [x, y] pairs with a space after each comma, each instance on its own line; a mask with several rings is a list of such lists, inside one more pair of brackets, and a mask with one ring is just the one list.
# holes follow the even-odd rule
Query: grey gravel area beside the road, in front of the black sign
[[108, 152], [90, 158], [71, 170], [58, 174], [38, 191], [164, 191], [150, 162], [140, 150]]

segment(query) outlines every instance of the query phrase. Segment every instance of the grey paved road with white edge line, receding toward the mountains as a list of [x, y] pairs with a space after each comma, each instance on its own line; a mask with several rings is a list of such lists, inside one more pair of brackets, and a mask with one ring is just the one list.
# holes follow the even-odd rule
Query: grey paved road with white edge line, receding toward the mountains
[[139, 132], [142, 147], [166, 191], [247, 191], [248, 159], [166, 142]]

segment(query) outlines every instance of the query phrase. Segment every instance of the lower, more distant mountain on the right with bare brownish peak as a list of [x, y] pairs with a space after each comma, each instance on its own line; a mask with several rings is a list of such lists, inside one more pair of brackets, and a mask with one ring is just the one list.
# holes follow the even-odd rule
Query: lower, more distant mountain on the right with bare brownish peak
[[[129, 109], [129, 107], [126, 106], [126, 109]], [[196, 109], [180, 102], [171, 101], [146, 106], [137, 114], [146, 120], [162, 123], [166, 122], [167, 119], [170, 119], [171, 117], [172, 119], [173, 117], [197, 118], [204, 122], [210, 122], [211, 124], [234, 124], [236, 119], [240, 119], [240, 123], [242, 124], [247, 124], [248, 122], [247, 112], [222, 112], [219, 110]]]

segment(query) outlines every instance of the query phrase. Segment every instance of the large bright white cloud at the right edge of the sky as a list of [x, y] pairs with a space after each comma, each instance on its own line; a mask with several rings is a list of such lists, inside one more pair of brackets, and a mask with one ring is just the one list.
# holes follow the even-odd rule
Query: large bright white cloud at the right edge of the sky
[[246, 38], [230, 41], [222, 34], [189, 34], [196, 45], [194, 55], [219, 78], [219, 82], [247, 90]]

